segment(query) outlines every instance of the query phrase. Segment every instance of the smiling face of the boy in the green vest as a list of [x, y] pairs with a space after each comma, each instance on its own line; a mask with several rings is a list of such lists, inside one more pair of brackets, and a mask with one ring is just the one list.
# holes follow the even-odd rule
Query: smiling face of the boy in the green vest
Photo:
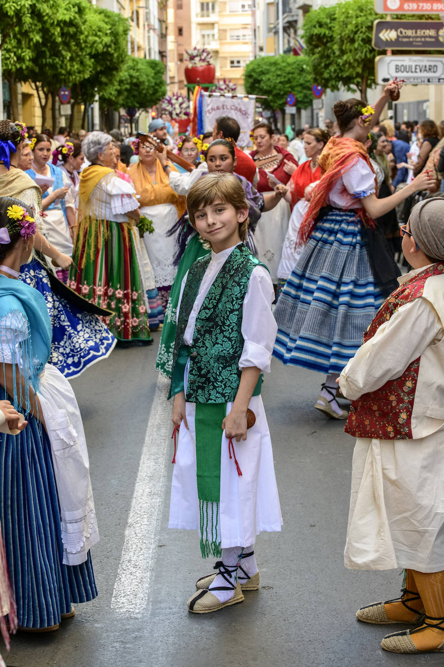
[[202, 239], [210, 241], [218, 253], [240, 243], [239, 224], [248, 216], [248, 209], [236, 211], [232, 204], [215, 201], [194, 212], [194, 224]]

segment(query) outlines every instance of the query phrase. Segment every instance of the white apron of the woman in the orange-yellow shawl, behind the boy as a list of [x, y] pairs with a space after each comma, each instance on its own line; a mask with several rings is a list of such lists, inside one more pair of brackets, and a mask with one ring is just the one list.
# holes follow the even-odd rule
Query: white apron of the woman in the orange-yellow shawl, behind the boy
[[176, 253], [176, 234], [168, 237], [166, 232], [178, 220], [176, 207], [174, 204], [142, 206], [140, 214], [150, 218], [154, 227], [152, 234], [144, 233], [143, 241], [154, 271], [156, 287], [172, 285], [177, 273], [177, 267], [172, 263]]

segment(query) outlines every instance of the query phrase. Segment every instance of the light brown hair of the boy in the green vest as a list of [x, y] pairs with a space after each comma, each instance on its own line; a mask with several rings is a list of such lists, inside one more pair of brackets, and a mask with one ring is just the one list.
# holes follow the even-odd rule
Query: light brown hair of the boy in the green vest
[[[244, 188], [236, 176], [232, 173], [209, 173], [194, 183], [188, 195], [186, 195], [186, 210], [194, 229], [196, 229], [194, 213], [204, 206], [210, 206], [216, 199], [231, 204], [236, 211], [240, 211], [240, 209], [248, 210]], [[241, 241], [245, 241], [247, 229], [248, 217], [239, 223]], [[210, 245], [204, 243], [204, 247], [210, 247]]]

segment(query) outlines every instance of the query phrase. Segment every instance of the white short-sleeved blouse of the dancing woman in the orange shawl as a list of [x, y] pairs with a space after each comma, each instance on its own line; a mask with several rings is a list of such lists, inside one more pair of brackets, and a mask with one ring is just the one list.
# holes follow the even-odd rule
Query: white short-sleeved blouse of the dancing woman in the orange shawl
[[337, 179], [328, 193], [327, 203], [337, 209], [362, 208], [359, 199], [374, 192], [375, 174], [365, 160], [358, 157], [355, 165]]

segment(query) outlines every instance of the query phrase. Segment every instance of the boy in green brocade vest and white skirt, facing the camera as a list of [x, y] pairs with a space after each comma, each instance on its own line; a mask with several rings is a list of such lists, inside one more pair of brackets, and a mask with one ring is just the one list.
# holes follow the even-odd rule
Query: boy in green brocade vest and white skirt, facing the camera
[[202, 556], [222, 556], [216, 574], [198, 580], [188, 601], [190, 612], [204, 614], [258, 588], [256, 535], [282, 525], [260, 397], [276, 322], [270, 275], [244, 245], [248, 203], [238, 179], [209, 174], [193, 185], [186, 203], [211, 253], [190, 267], [180, 293], [169, 526], [200, 530]]

